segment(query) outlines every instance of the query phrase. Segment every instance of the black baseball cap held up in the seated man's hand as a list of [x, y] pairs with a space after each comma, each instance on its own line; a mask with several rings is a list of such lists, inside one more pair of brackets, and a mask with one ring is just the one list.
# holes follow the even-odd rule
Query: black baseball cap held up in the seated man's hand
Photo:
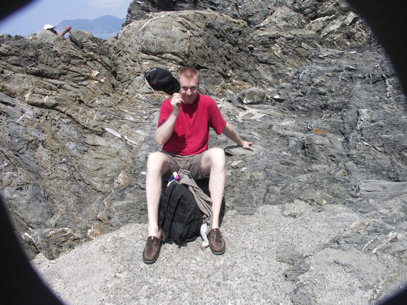
[[155, 91], [163, 91], [169, 95], [180, 91], [180, 83], [168, 70], [153, 68], [144, 77]]

